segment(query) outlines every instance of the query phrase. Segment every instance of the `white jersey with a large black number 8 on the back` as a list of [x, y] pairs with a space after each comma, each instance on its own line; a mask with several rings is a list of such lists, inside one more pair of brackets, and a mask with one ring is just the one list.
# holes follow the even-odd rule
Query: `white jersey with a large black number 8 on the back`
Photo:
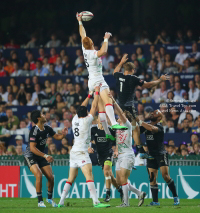
[[91, 125], [93, 116], [89, 114], [85, 118], [79, 118], [76, 114], [72, 120], [74, 133], [74, 145], [72, 151], [88, 152], [88, 145], [91, 141]]

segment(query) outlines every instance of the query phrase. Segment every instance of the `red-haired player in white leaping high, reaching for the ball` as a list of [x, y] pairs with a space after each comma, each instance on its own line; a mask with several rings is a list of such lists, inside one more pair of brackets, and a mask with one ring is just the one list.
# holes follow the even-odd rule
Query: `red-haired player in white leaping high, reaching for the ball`
[[86, 36], [85, 28], [82, 23], [82, 15], [77, 13], [77, 20], [79, 22], [79, 32], [81, 36], [83, 56], [85, 59], [85, 64], [89, 73], [88, 87], [90, 91], [93, 91], [95, 86], [102, 85], [100, 89], [100, 98], [99, 98], [99, 112], [100, 112], [100, 121], [103, 125], [103, 128], [106, 132], [106, 138], [115, 140], [112, 134], [108, 129], [108, 122], [106, 119], [106, 114], [108, 115], [113, 130], [118, 129], [127, 129], [125, 126], [120, 126], [114, 114], [114, 109], [112, 106], [112, 100], [108, 97], [109, 87], [105, 82], [102, 74], [102, 60], [101, 56], [105, 55], [108, 51], [108, 39], [111, 36], [111, 33], [105, 33], [104, 42], [99, 51], [94, 49], [93, 41]]

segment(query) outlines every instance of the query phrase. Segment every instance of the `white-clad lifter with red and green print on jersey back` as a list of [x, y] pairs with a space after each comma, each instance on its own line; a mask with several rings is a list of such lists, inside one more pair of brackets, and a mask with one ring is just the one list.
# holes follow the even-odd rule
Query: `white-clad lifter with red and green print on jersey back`
[[128, 127], [127, 130], [116, 131], [116, 149], [114, 152], [115, 157], [118, 157], [116, 163], [116, 180], [118, 185], [122, 186], [124, 195], [123, 203], [118, 207], [130, 206], [128, 191], [132, 191], [138, 195], [138, 206], [141, 206], [144, 203], [146, 193], [139, 191], [133, 185], [128, 183], [128, 177], [130, 176], [135, 162], [135, 154], [132, 149], [132, 126], [133, 128], [136, 127], [136, 121], [133, 119], [130, 112], [122, 111], [111, 94], [108, 95], [113, 100], [116, 113], [119, 116], [118, 122], [121, 125]]

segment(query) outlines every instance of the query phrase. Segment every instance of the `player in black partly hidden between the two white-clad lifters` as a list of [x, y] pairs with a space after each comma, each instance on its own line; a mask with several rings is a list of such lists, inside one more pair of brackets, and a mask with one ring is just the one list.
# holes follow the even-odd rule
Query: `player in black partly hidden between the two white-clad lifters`
[[[110, 128], [109, 130], [113, 137], [115, 137], [115, 132]], [[116, 187], [122, 199], [122, 189], [117, 184], [116, 179], [112, 174], [113, 149], [115, 149], [116, 142], [106, 138], [106, 133], [103, 129], [102, 123], [100, 122], [100, 118], [98, 118], [98, 125], [93, 125], [91, 128], [91, 140], [93, 143], [96, 144], [97, 158], [99, 161], [99, 165], [104, 171], [104, 176], [106, 179], [106, 198], [104, 199], [104, 201], [110, 201], [111, 183]], [[89, 147], [88, 152], [94, 153], [93, 148]]]

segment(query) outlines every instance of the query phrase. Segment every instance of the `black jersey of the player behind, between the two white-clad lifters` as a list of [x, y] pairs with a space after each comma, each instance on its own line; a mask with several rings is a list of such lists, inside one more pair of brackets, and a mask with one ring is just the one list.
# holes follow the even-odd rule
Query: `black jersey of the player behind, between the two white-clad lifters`
[[[115, 137], [115, 132], [110, 128], [109, 130]], [[96, 143], [98, 158], [113, 153], [112, 146], [116, 146], [116, 142], [112, 142], [106, 139], [105, 131], [98, 129], [97, 125], [93, 125], [91, 128], [91, 140], [94, 140]]]

